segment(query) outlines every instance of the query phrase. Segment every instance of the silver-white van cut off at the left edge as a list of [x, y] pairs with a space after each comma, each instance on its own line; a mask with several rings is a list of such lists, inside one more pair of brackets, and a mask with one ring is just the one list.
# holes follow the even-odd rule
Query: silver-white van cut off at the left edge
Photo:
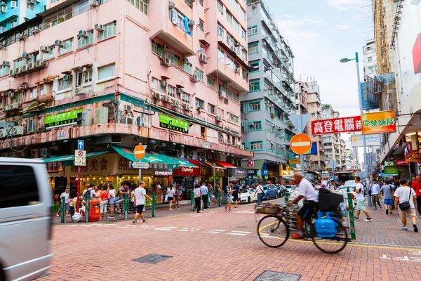
[[44, 162], [0, 157], [0, 281], [50, 268], [52, 203]]

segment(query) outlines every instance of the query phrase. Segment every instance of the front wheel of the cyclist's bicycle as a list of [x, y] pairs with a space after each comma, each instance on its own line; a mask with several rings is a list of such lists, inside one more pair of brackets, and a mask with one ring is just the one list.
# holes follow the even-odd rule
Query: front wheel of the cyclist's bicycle
[[281, 247], [288, 240], [289, 228], [283, 218], [264, 216], [258, 223], [258, 235], [266, 246]]

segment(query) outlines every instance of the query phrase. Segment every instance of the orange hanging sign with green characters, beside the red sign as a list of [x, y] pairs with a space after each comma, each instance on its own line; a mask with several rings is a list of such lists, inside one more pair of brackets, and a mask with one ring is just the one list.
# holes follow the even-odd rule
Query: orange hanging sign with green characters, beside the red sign
[[361, 115], [361, 130], [364, 135], [396, 132], [394, 111], [363, 113]]

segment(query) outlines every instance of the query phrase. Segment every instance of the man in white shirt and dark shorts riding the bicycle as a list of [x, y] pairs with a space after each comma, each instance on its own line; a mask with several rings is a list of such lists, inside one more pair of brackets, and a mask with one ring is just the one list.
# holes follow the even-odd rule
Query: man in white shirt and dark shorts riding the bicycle
[[302, 232], [303, 221], [311, 223], [310, 218], [312, 217], [314, 207], [316, 206], [316, 203], [319, 202], [319, 199], [316, 196], [316, 190], [313, 188], [312, 183], [304, 178], [302, 172], [298, 171], [294, 174], [294, 182], [298, 185], [298, 197], [295, 197], [294, 200], [288, 202], [287, 205], [291, 207], [304, 198], [304, 204], [297, 212], [298, 233], [295, 233], [292, 236], [294, 239], [302, 239], [304, 238], [304, 233]]

